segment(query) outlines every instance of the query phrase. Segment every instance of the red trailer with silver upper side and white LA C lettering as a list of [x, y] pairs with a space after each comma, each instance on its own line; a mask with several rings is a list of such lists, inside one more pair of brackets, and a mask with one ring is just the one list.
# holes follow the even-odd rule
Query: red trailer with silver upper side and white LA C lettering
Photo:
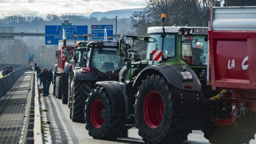
[[256, 7], [213, 7], [209, 28], [209, 84], [224, 90], [207, 102], [205, 137], [249, 143], [256, 133]]

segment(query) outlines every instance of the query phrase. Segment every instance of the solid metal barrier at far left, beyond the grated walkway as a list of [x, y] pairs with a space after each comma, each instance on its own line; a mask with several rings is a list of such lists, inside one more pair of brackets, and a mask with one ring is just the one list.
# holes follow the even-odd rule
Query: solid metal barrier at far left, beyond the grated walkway
[[13, 73], [9, 73], [7, 76], [0, 78], [0, 98], [2, 98], [17, 82], [17, 80], [25, 73], [25, 68], [18, 68], [13, 71]]

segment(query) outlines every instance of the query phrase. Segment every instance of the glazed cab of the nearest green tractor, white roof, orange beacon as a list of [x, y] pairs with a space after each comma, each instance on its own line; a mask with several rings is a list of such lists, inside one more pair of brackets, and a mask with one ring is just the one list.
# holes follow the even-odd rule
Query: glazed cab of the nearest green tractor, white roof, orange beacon
[[[163, 23], [164, 17], [162, 16]], [[206, 66], [208, 28], [163, 26], [148, 28], [148, 65], [171, 62], [172, 65]], [[175, 63], [173, 63], [175, 62]], [[169, 63], [170, 64], [170, 63]]]

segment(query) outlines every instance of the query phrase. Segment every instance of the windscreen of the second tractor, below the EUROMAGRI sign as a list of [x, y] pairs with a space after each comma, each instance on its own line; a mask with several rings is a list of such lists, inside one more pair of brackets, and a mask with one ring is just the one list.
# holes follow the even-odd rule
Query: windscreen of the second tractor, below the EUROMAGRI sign
[[125, 66], [123, 58], [126, 56], [116, 55], [117, 48], [94, 48], [92, 49], [91, 66], [102, 73], [115, 73]]

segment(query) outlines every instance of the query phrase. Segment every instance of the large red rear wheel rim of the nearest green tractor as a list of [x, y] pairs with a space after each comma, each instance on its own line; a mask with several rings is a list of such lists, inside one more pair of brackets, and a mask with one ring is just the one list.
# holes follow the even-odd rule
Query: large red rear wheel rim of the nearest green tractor
[[143, 116], [150, 128], [156, 128], [163, 119], [163, 100], [156, 90], [152, 90], [146, 96], [143, 106]]

